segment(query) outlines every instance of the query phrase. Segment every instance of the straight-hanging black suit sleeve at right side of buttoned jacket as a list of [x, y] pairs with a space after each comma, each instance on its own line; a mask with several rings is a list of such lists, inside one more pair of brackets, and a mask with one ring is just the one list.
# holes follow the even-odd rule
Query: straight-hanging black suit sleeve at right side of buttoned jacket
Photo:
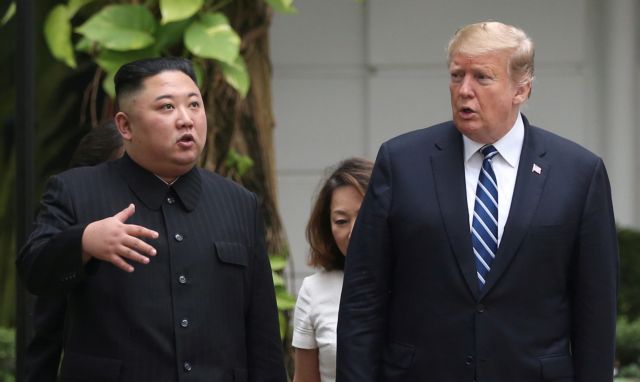
[[249, 307], [246, 316], [249, 381], [286, 382], [271, 266], [264, 225], [254, 197], [255, 231]]

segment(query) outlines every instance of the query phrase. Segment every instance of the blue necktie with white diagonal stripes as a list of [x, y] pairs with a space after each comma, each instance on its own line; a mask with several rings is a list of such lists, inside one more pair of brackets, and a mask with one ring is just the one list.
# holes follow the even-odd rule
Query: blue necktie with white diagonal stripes
[[471, 223], [471, 242], [480, 289], [484, 287], [498, 251], [498, 183], [491, 167], [491, 161], [498, 151], [493, 146], [485, 146], [481, 152], [484, 160], [478, 178]]

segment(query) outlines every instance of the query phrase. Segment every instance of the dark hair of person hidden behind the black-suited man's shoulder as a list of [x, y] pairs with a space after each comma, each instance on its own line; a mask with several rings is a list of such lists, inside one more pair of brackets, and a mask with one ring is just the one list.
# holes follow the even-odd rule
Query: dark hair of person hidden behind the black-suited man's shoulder
[[71, 157], [69, 167], [95, 166], [122, 154], [122, 136], [113, 121], [104, 122], [85, 134]]

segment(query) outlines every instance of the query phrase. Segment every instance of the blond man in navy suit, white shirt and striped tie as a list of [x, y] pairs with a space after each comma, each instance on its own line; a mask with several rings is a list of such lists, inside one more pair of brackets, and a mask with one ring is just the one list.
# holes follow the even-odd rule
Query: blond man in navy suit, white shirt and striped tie
[[453, 121], [380, 148], [346, 257], [338, 382], [606, 382], [618, 248], [602, 160], [520, 113], [533, 43], [449, 43]]

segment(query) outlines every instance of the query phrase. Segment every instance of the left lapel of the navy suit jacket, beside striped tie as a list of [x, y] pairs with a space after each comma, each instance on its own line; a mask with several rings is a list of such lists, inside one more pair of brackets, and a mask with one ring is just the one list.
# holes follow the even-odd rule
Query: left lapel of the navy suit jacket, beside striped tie
[[467, 286], [477, 299], [478, 281], [469, 235], [463, 152], [462, 136], [452, 126], [451, 134], [436, 143], [431, 166], [449, 243]]

